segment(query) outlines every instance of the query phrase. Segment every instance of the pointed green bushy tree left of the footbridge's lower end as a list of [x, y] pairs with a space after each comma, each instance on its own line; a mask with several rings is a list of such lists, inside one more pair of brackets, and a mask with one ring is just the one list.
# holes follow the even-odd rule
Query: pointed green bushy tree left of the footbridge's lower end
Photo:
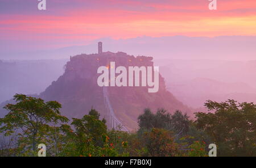
[[[89, 115], [84, 115], [82, 119], [74, 118], [71, 124], [75, 131], [69, 128], [66, 130], [68, 144], [65, 145], [60, 156], [128, 156], [129, 154], [124, 152], [124, 148], [121, 148], [122, 142], [117, 138], [114, 139], [114, 131], [108, 133], [105, 123], [105, 119], [100, 120], [100, 114], [94, 109], [90, 110]], [[119, 134], [119, 132], [117, 133]], [[111, 140], [109, 135], [112, 137]], [[115, 146], [118, 146], [119, 149]]]

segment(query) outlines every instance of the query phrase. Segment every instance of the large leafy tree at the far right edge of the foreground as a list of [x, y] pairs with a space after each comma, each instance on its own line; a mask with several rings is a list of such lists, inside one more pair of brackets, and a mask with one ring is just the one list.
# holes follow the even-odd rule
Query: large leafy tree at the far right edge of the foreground
[[196, 127], [218, 146], [218, 156], [256, 156], [256, 105], [235, 100], [205, 106], [214, 113], [196, 113]]

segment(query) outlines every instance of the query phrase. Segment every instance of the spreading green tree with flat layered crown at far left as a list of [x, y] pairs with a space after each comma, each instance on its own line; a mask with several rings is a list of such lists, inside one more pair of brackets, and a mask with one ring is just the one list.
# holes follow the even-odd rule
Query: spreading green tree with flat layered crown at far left
[[0, 119], [0, 132], [5, 136], [19, 132], [19, 147], [24, 150], [36, 151], [36, 144], [42, 142], [51, 124], [67, 122], [67, 117], [61, 116], [61, 104], [56, 101], [44, 102], [23, 94], [14, 96], [16, 104], [7, 104], [4, 108], [8, 114]]

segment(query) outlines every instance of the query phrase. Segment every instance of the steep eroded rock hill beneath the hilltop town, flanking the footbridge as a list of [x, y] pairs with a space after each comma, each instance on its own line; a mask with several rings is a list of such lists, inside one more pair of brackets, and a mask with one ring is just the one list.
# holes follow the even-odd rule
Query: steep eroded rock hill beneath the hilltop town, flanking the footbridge
[[[152, 57], [134, 57], [123, 52], [77, 55], [71, 57], [65, 67], [65, 73], [57, 81], [52, 82], [40, 97], [60, 102], [63, 105], [61, 113], [69, 118], [80, 118], [88, 114], [93, 107], [109, 123], [103, 89], [97, 84], [97, 78], [101, 75], [97, 73], [97, 69], [100, 66], [109, 66], [110, 62], [115, 62], [116, 67], [125, 66], [126, 68], [154, 66]], [[137, 117], [144, 108], [151, 108], [152, 111], [165, 108], [169, 112], [175, 110], [190, 112], [187, 106], [166, 90], [164, 79], [160, 74], [157, 93], [148, 93], [148, 87], [142, 86], [109, 86], [108, 94], [115, 115], [130, 130], [138, 127]]]

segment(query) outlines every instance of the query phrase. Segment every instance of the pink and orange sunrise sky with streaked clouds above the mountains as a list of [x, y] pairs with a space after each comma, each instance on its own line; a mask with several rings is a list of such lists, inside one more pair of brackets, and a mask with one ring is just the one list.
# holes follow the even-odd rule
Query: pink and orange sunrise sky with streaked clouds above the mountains
[[[0, 0], [0, 51], [85, 45], [102, 37], [255, 36], [255, 0]], [[32, 49], [31, 49], [32, 48]]]

